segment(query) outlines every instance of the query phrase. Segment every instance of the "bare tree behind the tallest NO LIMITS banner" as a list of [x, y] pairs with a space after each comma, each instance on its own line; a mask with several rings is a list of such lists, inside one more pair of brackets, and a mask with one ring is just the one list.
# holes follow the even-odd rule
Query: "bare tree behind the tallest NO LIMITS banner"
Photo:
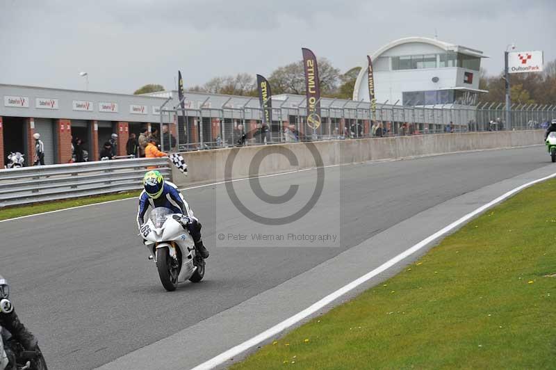
[[[318, 58], [318, 78], [320, 94], [323, 97], [333, 96], [338, 88], [340, 70], [334, 67], [327, 58]], [[305, 72], [303, 61], [290, 63], [277, 68], [268, 78], [274, 94], [305, 94]]]

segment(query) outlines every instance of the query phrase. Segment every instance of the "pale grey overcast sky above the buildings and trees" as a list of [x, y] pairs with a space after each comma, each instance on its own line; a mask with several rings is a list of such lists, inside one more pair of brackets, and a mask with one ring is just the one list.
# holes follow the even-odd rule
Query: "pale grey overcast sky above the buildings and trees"
[[396, 38], [479, 49], [489, 74], [503, 51], [556, 58], [556, 0], [0, 0], [0, 83], [133, 93], [247, 72], [270, 74], [301, 47], [342, 72]]

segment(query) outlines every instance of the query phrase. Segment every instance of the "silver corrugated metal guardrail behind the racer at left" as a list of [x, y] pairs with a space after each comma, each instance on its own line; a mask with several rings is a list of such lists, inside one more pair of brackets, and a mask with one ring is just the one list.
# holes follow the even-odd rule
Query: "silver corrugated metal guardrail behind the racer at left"
[[167, 158], [156, 158], [0, 170], [0, 207], [138, 190], [146, 168], [172, 179], [170, 166]]

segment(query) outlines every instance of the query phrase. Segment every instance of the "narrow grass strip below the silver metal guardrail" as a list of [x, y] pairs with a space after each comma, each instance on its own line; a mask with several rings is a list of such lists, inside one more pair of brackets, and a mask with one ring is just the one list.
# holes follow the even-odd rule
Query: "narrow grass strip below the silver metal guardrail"
[[126, 191], [124, 193], [97, 195], [94, 197], [56, 200], [53, 202], [35, 203], [31, 205], [17, 206], [17, 207], [4, 207], [4, 208], [0, 208], [0, 220], [7, 220], [8, 218], [28, 216], [30, 214], [41, 214], [42, 212], [56, 211], [58, 209], [83, 206], [85, 204], [108, 202], [108, 200], [133, 198], [133, 197], [138, 197], [139, 193], [140, 191]]

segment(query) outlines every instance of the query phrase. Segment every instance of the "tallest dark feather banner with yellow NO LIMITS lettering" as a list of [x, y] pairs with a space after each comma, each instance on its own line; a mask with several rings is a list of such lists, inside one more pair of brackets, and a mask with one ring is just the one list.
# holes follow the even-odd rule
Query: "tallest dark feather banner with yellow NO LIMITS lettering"
[[302, 51], [307, 97], [307, 125], [316, 130], [320, 126], [320, 80], [318, 79], [317, 58], [309, 49], [302, 48]]

